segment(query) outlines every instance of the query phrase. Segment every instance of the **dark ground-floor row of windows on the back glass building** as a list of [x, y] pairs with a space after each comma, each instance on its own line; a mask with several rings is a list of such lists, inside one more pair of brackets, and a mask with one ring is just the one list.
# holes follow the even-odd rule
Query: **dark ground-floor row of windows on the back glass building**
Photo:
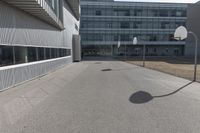
[[[126, 47], [126, 48], [125, 48]], [[82, 54], [84, 56], [94, 56], [94, 55], [126, 55], [128, 56], [139, 56], [143, 53], [143, 46], [127, 45], [121, 46], [120, 48], [117, 45], [84, 45], [82, 49]], [[184, 53], [183, 46], [146, 46], [146, 55], [147, 56], [181, 56]]]

